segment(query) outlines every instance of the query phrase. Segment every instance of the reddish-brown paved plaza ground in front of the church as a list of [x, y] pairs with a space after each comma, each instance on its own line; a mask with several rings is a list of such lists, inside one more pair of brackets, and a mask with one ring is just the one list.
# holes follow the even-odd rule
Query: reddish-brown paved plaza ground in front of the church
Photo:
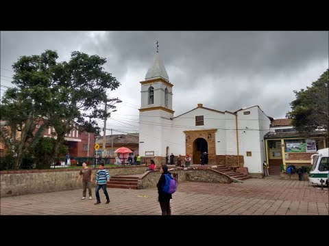
[[[161, 215], [156, 188], [108, 189], [110, 204], [99, 192], [99, 205], [95, 195], [81, 200], [82, 189], [3, 197], [0, 215]], [[328, 188], [269, 176], [232, 184], [180, 183], [171, 207], [173, 215], [328, 215], [328, 200]]]

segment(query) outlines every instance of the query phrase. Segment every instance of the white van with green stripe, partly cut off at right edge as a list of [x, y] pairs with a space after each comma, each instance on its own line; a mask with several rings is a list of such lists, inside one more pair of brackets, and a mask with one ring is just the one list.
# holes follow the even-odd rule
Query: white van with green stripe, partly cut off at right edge
[[311, 156], [312, 168], [308, 179], [312, 184], [326, 184], [328, 186], [329, 175], [329, 148], [317, 150], [317, 154]]

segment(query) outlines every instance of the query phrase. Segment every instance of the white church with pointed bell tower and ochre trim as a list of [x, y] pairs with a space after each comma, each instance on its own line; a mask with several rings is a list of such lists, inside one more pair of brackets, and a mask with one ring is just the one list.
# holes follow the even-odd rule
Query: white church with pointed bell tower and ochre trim
[[200, 103], [174, 116], [173, 84], [158, 52], [145, 81], [140, 83], [141, 156], [151, 157], [160, 165], [171, 153], [183, 158], [188, 154], [197, 164], [201, 153], [208, 152], [208, 165], [247, 167], [249, 174], [263, 174], [264, 135], [269, 132], [271, 120], [260, 107], [230, 112], [208, 109]]

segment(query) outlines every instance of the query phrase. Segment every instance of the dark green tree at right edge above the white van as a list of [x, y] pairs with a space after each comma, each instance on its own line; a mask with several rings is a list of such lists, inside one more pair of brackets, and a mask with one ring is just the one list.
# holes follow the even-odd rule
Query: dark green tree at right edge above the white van
[[294, 91], [296, 99], [290, 103], [291, 111], [287, 113], [287, 117], [292, 119], [293, 126], [303, 135], [309, 136], [316, 129], [326, 130], [328, 135], [328, 71], [313, 82], [312, 86], [306, 87], [306, 90]]

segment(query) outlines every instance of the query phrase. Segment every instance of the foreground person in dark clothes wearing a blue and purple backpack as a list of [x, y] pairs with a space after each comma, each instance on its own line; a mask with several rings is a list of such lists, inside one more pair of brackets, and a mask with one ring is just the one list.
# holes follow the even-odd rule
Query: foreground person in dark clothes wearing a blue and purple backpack
[[162, 215], [171, 215], [170, 200], [177, 189], [177, 176], [173, 178], [168, 172], [167, 165], [162, 165], [160, 168], [160, 179], [156, 187], [158, 187], [158, 201], [160, 203]]

